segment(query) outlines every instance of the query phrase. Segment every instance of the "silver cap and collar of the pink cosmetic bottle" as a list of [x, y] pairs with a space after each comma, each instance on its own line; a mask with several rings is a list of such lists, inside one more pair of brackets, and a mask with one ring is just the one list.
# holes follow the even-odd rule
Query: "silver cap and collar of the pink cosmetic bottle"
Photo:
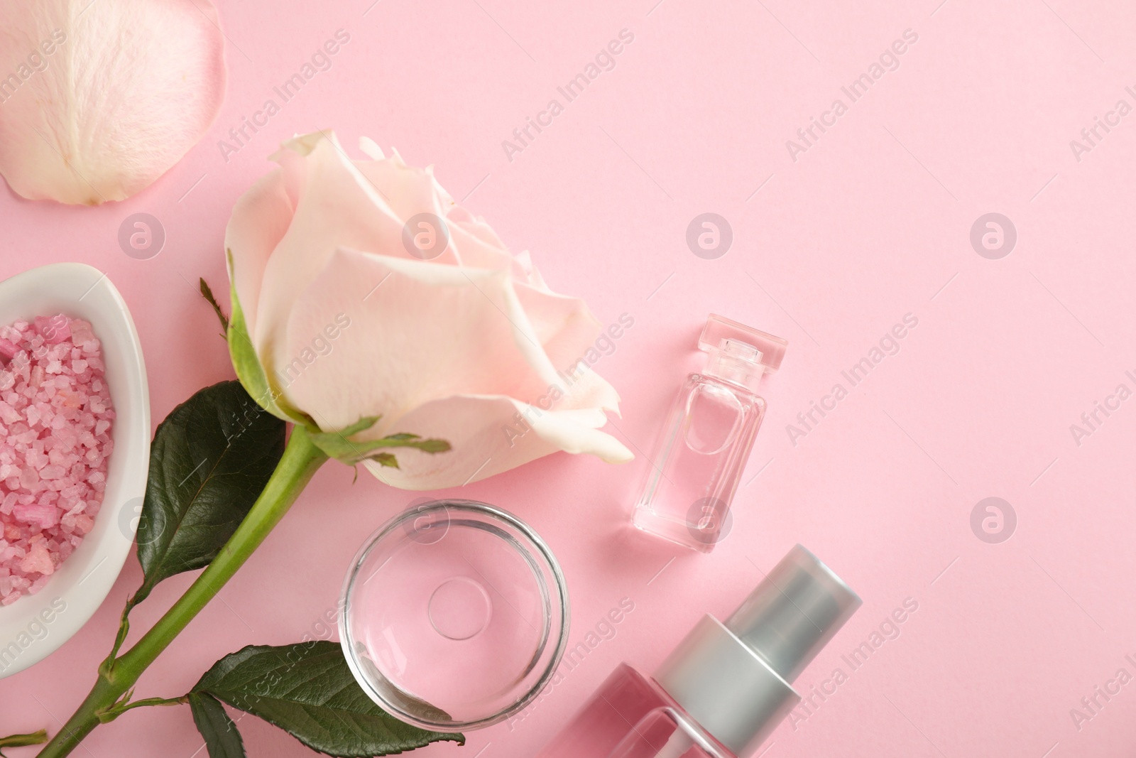
[[791, 682], [860, 607], [796, 545], [722, 624], [704, 616], [655, 681], [734, 755], [752, 755], [801, 701]]

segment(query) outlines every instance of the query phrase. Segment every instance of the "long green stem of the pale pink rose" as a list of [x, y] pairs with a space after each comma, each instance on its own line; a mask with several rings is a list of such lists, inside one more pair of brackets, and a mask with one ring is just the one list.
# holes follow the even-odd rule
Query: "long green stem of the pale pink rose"
[[[91, 693], [51, 742], [40, 751], [40, 758], [60, 758], [69, 755], [95, 726], [112, 720], [125, 710], [123, 708], [125, 703], [120, 701], [124, 695], [128, 698], [128, 692], [142, 676], [142, 672], [193, 620], [206, 603], [212, 600], [220, 588], [244, 565], [252, 551], [260, 547], [311, 481], [316, 469], [326, 460], [327, 455], [312, 443], [308, 432], [302, 426], [294, 426], [284, 449], [284, 456], [264, 492], [257, 498], [233, 536], [222, 548], [220, 553], [133, 648], [99, 667], [99, 678]], [[143, 701], [139, 701], [139, 705], [143, 705]]]

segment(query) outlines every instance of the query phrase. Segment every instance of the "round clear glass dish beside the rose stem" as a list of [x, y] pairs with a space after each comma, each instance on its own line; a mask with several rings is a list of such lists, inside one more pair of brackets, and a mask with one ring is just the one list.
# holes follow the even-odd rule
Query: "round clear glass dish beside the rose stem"
[[474, 500], [434, 500], [379, 527], [340, 602], [340, 642], [364, 691], [442, 732], [527, 706], [560, 665], [568, 624], [568, 590], [544, 540]]

